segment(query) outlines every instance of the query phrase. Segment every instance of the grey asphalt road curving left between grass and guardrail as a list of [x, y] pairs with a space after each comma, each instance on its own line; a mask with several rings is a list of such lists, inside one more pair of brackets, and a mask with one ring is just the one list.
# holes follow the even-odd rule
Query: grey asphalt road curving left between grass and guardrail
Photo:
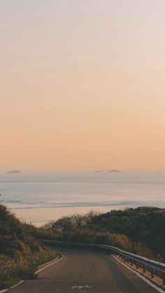
[[[64, 258], [8, 293], [152, 293], [135, 273], [103, 252], [58, 248]], [[82, 287], [80, 287], [82, 286]]]

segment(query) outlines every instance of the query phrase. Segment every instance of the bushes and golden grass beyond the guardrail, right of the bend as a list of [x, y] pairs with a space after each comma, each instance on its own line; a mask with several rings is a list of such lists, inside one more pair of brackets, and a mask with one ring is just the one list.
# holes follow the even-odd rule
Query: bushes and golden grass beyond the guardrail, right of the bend
[[26, 225], [36, 238], [99, 243], [165, 261], [165, 209], [152, 207], [71, 215], [41, 228]]

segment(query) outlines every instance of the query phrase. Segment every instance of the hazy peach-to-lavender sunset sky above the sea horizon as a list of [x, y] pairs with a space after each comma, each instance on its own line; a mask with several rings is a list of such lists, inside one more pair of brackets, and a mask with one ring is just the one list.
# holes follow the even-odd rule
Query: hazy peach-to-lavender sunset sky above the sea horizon
[[0, 171], [164, 170], [164, 15], [164, 0], [0, 0]]

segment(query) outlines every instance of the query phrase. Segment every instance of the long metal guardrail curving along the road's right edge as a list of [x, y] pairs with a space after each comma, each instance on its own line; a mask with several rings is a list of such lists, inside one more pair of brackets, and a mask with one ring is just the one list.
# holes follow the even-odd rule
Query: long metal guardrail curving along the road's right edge
[[165, 264], [162, 262], [156, 262], [152, 259], [147, 259], [146, 257], [141, 257], [139, 255], [134, 255], [134, 253], [127, 252], [121, 250], [120, 248], [116, 248], [110, 245], [102, 245], [102, 244], [91, 244], [91, 243], [73, 243], [73, 242], [64, 242], [64, 241], [54, 241], [54, 240], [44, 240], [38, 239], [45, 244], [49, 245], [57, 245], [57, 246], [65, 246], [65, 247], [73, 247], [73, 248], [94, 248], [96, 250], [106, 251], [113, 253], [115, 255], [119, 255], [124, 262], [130, 263], [131, 266], [133, 264], [136, 265], [136, 269], [139, 266], [143, 266], [143, 273], [146, 271], [150, 271], [151, 278], [157, 276], [157, 273], [160, 273], [161, 278], [163, 280], [163, 285], [165, 285]]

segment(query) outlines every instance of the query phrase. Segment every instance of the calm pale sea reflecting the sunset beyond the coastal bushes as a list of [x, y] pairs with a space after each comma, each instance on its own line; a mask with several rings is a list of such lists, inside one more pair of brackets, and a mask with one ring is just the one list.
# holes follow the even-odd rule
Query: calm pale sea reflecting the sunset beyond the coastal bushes
[[165, 208], [165, 171], [0, 174], [1, 200], [37, 225], [89, 210]]

